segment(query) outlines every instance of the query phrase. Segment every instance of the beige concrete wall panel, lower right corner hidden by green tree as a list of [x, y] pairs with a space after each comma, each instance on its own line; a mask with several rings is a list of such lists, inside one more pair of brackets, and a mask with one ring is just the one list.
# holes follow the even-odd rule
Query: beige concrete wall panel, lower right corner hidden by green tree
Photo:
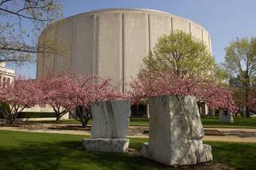
[[147, 14], [125, 15], [125, 81], [131, 81], [149, 54], [149, 26]]

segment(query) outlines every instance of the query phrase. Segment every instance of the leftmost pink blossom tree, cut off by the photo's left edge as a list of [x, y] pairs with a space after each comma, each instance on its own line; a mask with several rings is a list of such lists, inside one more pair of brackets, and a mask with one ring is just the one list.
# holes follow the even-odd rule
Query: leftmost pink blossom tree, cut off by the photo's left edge
[[2, 85], [0, 88], [0, 112], [10, 124], [13, 124], [18, 113], [37, 105], [40, 99], [41, 93], [35, 82], [18, 77], [14, 83]]

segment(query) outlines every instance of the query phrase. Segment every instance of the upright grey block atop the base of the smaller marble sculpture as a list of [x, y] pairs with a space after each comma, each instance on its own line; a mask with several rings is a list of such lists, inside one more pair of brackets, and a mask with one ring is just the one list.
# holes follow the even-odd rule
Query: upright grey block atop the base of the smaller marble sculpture
[[130, 122], [130, 101], [102, 101], [92, 108], [90, 138], [126, 138]]

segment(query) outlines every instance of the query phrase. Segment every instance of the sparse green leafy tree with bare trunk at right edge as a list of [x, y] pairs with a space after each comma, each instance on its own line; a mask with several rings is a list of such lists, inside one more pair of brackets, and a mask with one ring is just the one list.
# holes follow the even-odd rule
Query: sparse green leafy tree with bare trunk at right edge
[[245, 97], [246, 117], [250, 117], [248, 102], [250, 91], [255, 89], [256, 38], [242, 38], [226, 47], [225, 67], [241, 96]]

